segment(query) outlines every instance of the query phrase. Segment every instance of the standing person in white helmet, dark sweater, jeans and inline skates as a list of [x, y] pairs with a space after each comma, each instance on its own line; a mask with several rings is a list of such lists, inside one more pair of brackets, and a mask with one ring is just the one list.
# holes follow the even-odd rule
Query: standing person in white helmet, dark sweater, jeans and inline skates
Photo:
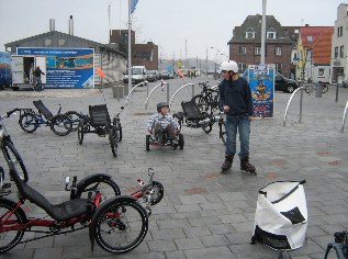
[[238, 65], [228, 60], [221, 65], [223, 80], [218, 86], [220, 105], [226, 114], [226, 151], [222, 172], [232, 167], [236, 154], [236, 136], [239, 134], [240, 170], [256, 174], [255, 167], [249, 162], [250, 122], [254, 119], [251, 91], [246, 79], [238, 76]]

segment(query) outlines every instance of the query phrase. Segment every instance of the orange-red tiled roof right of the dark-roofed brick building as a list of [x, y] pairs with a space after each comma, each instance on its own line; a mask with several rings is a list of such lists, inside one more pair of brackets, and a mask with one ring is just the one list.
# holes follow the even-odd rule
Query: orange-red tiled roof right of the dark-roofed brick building
[[[300, 27], [302, 45], [313, 49], [313, 64], [330, 64], [333, 26], [302, 26]], [[312, 36], [308, 42], [307, 36]]]

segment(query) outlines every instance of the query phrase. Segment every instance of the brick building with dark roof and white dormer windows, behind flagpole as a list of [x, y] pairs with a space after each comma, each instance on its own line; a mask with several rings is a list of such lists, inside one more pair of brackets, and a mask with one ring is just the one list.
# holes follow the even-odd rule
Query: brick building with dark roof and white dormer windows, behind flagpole
[[[262, 15], [248, 15], [240, 26], [233, 30], [228, 42], [229, 59], [238, 63], [239, 71], [248, 65], [260, 63], [261, 58], [261, 21]], [[299, 27], [281, 26], [273, 15], [266, 16], [265, 63], [276, 64], [277, 71], [294, 78], [295, 67], [292, 64]]]

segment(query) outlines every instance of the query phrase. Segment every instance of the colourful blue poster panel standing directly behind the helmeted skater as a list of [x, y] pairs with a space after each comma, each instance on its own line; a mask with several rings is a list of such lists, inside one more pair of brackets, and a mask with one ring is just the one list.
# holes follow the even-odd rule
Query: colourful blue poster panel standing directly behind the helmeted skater
[[249, 65], [255, 117], [274, 117], [274, 65]]

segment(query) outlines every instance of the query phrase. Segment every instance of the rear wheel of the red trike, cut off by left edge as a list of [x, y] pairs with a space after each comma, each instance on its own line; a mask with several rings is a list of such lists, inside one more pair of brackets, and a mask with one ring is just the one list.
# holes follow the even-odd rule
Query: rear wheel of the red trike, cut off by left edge
[[[15, 210], [15, 207], [16, 204], [14, 202], [7, 199], [0, 199], [0, 225], [2, 227], [15, 226], [27, 221], [24, 211], [21, 207]], [[13, 212], [13, 214], [5, 219], [11, 212]], [[9, 251], [15, 247], [21, 241], [23, 235], [24, 230], [22, 229], [0, 233], [0, 254]]]

